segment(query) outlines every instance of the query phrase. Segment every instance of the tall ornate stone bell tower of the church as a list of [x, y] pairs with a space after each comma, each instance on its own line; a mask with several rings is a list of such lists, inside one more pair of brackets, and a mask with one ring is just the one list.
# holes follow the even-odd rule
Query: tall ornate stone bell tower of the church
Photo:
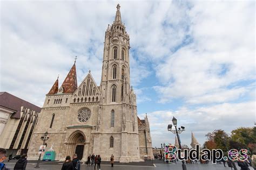
[[[129, 40], [118, 4], [114, 22], [105, 32], [96, 147], [93, 151], [99, 152], [102, 148], [104, 152], [106, 148], [106, 152], [115, 155], [120, 162], [139, 161], [140, 157], [136, 95], [130, 88]], [[109, 140], [105, 144], [110, 146], [98, 144], [103, 138]]]

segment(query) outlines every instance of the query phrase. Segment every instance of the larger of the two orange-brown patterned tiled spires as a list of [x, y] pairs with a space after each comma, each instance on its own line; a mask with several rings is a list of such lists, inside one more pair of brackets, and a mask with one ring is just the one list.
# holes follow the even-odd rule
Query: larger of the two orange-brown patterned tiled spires
[[76, 61], [62, 83], [63, 93], [73, 93], [77, 89]]

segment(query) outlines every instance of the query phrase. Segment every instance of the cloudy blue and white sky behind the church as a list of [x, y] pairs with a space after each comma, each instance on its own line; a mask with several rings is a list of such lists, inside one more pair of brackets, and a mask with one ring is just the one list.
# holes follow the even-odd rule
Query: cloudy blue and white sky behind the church
[[77, 55], [78, 84], [100, 84], [103, 42], [120, 3], [130, 34], [131, 84], [153, 147], [173, 143], [175, 116], [203, 144], [255, 121], [254, 1], [1, 1], [0, 91], [42, 107]]

